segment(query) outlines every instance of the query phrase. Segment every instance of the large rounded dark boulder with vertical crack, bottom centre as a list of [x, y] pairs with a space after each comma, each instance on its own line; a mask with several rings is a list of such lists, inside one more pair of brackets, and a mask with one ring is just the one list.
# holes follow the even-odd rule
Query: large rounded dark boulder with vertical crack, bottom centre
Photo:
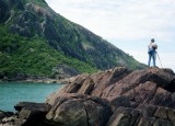
[[63, 94], [47, 114], [55, 125], [103, 126], [112, 112], [106, 101], [82, 94]]

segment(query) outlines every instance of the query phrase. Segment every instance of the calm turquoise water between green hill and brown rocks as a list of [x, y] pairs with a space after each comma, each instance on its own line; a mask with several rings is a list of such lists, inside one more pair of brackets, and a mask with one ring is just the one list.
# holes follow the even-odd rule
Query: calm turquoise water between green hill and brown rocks
[[0, 83], [0, 110], [15, 112], [19, 102], [43, 103], [52, 92], [65, 84], [58, 83]]

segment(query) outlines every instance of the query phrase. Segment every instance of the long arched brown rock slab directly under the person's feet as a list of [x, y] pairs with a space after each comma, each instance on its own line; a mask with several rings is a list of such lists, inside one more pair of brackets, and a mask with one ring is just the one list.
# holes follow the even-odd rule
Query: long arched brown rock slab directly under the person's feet
[[[159, 68], [136, 70], [128, 75], [126, 78], [116, 82], [114, 85], [107, 87], [103, 92], [103, 98], [110, 99], [117, 95], [121, 95], [147, 81], [154, 82], [158, 87], [168, 89], [171, 85], [175, 84], [174, 79], [174, 75], [171, 75], [171, 72], [166, 72]], [[175, 88], [171, 90], [173, 91]]]

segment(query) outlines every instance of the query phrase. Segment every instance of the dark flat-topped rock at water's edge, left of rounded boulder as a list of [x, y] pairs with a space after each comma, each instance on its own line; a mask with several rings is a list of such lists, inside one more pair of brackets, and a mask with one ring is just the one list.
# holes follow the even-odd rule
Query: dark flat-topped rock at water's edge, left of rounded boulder
[[43, 126], [50, 105], [45, 103], [22, 102], [14, 106], [19, 111], [15, 126]]

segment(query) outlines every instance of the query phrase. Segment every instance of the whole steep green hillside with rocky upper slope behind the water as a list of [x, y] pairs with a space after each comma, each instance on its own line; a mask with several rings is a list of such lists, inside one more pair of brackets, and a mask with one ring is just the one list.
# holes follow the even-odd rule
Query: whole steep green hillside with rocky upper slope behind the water
[[45, 0], [0, 0], [0, 78], [63, 78], [144, 65], [54, 12]]

